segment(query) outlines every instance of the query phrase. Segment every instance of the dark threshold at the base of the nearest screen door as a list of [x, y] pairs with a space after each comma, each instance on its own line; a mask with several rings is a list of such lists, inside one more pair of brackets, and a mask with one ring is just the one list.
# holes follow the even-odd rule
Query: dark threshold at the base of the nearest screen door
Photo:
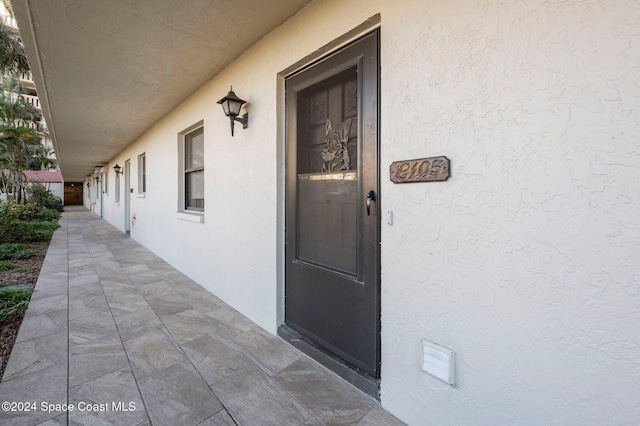
[[327, 350], [318, 346], [309, 338], [298, 333], [291, 327], [281, 325], [278, 328], [278, 336], [300, 352], [308, 355], [313, 360], [351, 383], [362, 392], [372, 398], [375, 398], [377, 401], [380, 401], [380, 379], [376, 379], [364, 371], [346, 363], [344, 360], [329, 353]]

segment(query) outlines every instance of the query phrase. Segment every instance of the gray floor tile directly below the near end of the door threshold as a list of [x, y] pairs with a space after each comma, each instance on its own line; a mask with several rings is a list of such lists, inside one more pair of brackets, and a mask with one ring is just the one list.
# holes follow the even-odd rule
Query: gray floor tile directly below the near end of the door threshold
[[376, 404], [308, 358], [287, 367], [275, 379], [327, 424], [358, 423]]

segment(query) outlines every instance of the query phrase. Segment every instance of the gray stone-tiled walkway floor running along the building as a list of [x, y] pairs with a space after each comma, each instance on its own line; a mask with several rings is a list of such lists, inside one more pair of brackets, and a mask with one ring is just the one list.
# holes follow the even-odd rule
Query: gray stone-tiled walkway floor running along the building
[[61, 225], [0, 424], [402, 424], [97, 216]]

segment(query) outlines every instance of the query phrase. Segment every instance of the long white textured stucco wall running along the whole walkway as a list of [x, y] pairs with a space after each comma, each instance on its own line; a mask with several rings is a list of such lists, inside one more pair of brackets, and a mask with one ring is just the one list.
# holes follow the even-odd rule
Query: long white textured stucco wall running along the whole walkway
[[[637, 421], [638, 2], [314, 2], [113, 159], [105, 218], [123, 229], [112, 167], [130, 159], [132, 237], [275, 332], [278, 75], [378, 13], [382, 405], [411, 425]], [[231, 84], [250, 113], [233, 138]], [[177, 134], [201, 120], [202, 224], [176, 217]], [[436, 155], [449, 181], [389, 181]], [[455, 387], [421, 371], [423, 339], [455, 351]]]

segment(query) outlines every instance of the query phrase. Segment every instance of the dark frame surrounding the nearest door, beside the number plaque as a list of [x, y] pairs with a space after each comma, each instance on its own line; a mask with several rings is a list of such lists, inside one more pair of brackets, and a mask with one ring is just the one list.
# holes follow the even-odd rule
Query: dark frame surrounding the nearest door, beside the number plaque
[[[381, 191], [381, 156], [380, 156], [380, 146], [381, 146], [381, 132], [380, 132], [380, 117], [381, 117], [381, 88], [380, 88], [380, 80], [381, 80], [381, 35], [380, 35], [380, 15], [376, 14], [369, 18], [367, 21], [344, 34], [343, 36], [335, 39], [334, 41], [328, 43], [327, 45], [316, 49], [314, 53], [306, 56], [300, 61], [296, 62], [294, 65], [286, 68], [282, 72], [278, 73], [277, 80], [277, 101], [278, 101], [278, 132], [277, 138], [279, 140], [277, 146], [277, 158], [278, 158], [278, 270], [277, 270], [277, 324], [278, 324], [278, 335], [283, 339], [287, 340], [290, 344], [297, 347], [302, 352], [305, 352], [307, 355], [316, 359], [320, 363], [322, 363], [325, 367], [334, 371], [345, 380], [368, 393], [370, 396], [379, 399], [380, 398], [380, 371], [382, 369], [382, 358], [381, 358], [381, 345], [382, 345], [382, 330], [381, 330], [381, 321], [378, 320], [377, 328], [378, 328], [378, 359], [379, 359], [379, 367], [378, 367], [378, 377], [374, 378], [366, 373], [363, 374], [361, 371], [354, 371], [352, 368], [342, 362], [342, 360], [337, 359], [337, 357], [327, 354], [321, 348], [319, 349], [317, 345], [314, 345], [313, 342], [308, 341], [304, 336], [297, 333], [295, 330], [292, 330], [285, 325], [285, 281], [286, 281], [286, 212], [287, 212], [287, 197], [286, 197], [286, 185], [287, 185], [287, 152], [288, 152], [288, 138], [287, 138], [287, 108], [286, 108], [286, 79], [293, 74], [298, 73], [299, 71], [313, 66], [317, 62], [324, 60], [325, 58], [339, 52], [344, 47], [349, 46], [350, 44], [357, 42], [359, 39], [366, 37], [370, 33], [378, 32], [378, 80], [377, 80], [377, 187], [378, 191]], [[375, 203], [375, 208], [378, 210], [378, 237], [381, 242], [382, 232], [381, 232], [381, 207], [380, 207], [380, 194], [378, 193], [377, 202]], [[377, 286], [378, 286], [378, 295], [377, 295], [377, 309], [378, 313], [381, 315], [381, 288], [382, 288], [382, 275], [381, 275], [381, 252], [378, 244], [377, 250]]]

